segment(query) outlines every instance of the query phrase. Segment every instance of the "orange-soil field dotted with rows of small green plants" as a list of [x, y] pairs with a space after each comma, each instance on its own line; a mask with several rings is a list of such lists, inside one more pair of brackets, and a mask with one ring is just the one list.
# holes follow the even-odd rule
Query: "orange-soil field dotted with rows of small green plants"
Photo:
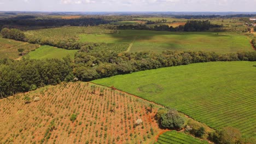
[[0, 143], [154, 143], [159, 106], [149, 113], [149, 104], [85, 82], [40, 88], [0, 100]]

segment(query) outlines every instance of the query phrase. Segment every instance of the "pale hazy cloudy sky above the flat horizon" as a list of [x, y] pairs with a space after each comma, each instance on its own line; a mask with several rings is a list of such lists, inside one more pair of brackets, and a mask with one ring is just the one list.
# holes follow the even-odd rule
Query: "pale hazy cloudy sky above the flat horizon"
[[239, 11], [256, 0], [0, 0], [0, 11]]

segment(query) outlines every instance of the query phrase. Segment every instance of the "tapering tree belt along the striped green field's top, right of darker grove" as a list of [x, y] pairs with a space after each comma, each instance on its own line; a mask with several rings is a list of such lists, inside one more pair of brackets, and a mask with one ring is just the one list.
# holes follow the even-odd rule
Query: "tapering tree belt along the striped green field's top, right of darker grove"
[[256, 52], [218, 54], [215, 52], [83, 52], [75, 54], [74, 75], [90, 81], [135, 71], [214, 61], [256, 61]]

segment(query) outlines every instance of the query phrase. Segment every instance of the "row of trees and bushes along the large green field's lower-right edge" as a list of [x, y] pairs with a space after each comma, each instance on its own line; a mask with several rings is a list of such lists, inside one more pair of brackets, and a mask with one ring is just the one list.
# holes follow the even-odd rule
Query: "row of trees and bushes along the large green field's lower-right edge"
[[184, 130], [185, 133], [199, 137], [201, 139], [208, 139], [214, 143], [224, 144], [243, 144], [243, 143], [256, 143], [255, 139], [245, 139], [242, 137], [238, 129], [232, 127], [225, 127], [220, 130], [207, 132], [203, 124], [195, 122], [186, 122], [184, 115], [181, 115], [174, 109], [159, 109], [155, 116], [158, 119], [161, 128]]

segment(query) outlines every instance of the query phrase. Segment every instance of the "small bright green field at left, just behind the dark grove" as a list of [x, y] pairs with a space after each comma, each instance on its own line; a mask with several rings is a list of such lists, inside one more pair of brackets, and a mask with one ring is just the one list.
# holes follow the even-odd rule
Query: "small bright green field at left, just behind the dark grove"
[[66, 50], [60, 49], [53, 46], [40, 46], [35, 51], [28, 53], [28, 56], [33, 59], [44, 59], [44, 58], [63, 58], [67, 55], [71, 56], [72, 60], [74, 60], [74, 54], [78, 50]]

